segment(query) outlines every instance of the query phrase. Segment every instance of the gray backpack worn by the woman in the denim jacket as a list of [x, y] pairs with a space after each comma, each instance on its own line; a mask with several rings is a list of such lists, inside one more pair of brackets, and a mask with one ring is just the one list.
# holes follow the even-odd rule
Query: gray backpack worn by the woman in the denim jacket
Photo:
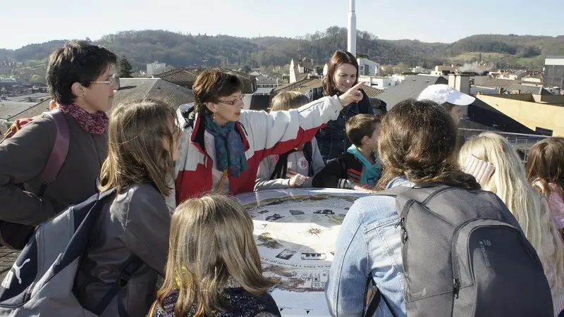
[[[407, 316], [554, 316], [537, 252], [496, 194], [434, 184], [376, 195], [396, 197]], [[364, 316], [386, 302], [375, 290]]]

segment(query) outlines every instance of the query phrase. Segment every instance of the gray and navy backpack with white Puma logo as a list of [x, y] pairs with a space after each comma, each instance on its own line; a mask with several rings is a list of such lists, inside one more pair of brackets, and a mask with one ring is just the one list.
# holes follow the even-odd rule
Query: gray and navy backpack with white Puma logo
[[[82, 316], [102, 314], [112, 299], [142, 265], [133, 254], [93, 311], [84, 309], [73, 293], [75, 275], [102, 206], [114, 199], [115, 189], [94, 194], [39, 225], [0, 286], [0, 316]], [[127, 316], [118, 302], [120, 316]]]

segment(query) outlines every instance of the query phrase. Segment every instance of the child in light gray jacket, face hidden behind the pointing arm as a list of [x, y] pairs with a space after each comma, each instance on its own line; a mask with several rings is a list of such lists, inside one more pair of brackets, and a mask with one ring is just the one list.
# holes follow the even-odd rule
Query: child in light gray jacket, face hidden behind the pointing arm
[[[282, 92], [272, 99], [271, 111], [297, 109], [309, 103], [305, 94]], [[312, 187], [312, 179], [325, 167], [317, 140], [301, 144], [285, 154], [270, 155], [260, 162], [255, 191], [288, 187]]]

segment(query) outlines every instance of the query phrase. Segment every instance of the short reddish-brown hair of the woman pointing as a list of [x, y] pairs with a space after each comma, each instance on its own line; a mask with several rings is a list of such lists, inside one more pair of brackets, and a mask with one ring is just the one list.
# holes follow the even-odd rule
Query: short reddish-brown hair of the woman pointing
[[231, 73], [219, 68], [204, 70], [194, 82], [194, 110], [200, 116], [211, 113], [206, 102], [217, 103], [219, 97], [228, 97], [235, 92], [243, 91], [243, 82]]

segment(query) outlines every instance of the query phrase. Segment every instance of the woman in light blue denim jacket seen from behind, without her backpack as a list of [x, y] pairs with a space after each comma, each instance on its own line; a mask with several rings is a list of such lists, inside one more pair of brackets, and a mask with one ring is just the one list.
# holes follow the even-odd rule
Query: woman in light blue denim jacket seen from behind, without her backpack
[[[379, 151], [384, 175], [378, 187], [448, 182], [479, 189], [474, 177], [458, 167], [456, 138], [452, 118], [434, 102], [400, 102], [382, 120]], [[325, 287], [332, 316], [362, 315], [369, 275], [386, 299], [375, 316], [392, 316], [390, 310], [395, 316], [405, 316], [400, 228], [395, 228], [396, 223], [393, 197], [364, 197], [350, 208]]]

